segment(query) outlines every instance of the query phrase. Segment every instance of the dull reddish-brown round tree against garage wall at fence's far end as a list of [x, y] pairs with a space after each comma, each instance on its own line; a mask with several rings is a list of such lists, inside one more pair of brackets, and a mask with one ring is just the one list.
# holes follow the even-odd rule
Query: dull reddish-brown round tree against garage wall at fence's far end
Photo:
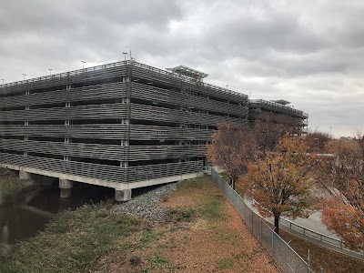
[[257, 143], [253, 134], [248, 127], [223, 123], [207, 147], [208, 160], [227, 172], [233, 188], [238, 177], [247, 171], [248, 162], [256, 156]]

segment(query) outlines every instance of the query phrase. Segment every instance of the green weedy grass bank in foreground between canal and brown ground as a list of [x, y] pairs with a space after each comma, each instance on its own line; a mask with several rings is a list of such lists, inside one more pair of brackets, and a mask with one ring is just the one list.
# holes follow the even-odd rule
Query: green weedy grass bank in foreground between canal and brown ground
[[96, 259], [122, 248], [118, 238], [138, 227], [135, 218], [116, 217], [105, 204], [67, 211], [1, 258], [0, 272], [86, 272]]

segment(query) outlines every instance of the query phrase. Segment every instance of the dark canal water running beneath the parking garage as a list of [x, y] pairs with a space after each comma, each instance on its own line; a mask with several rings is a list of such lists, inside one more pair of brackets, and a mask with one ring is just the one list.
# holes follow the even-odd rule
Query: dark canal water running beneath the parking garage
[[60, 198], [56, 180], [46, 179], [36, 181], [43, 184], [38, 192], [0, 207], [0, 255], [16, 242], [34, 237], [58, 213], [114, 197], [113, 188], [74, 182], [72, 197]]

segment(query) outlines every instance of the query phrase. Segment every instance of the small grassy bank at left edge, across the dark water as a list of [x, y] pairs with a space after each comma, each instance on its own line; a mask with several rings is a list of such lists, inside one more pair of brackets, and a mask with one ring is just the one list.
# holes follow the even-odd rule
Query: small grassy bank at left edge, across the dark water
[[21, 180], [15, 176], [15, 172], [0, 167], [0, 205], [15, 201], [26, 188], [32, 186], [32, 180]]

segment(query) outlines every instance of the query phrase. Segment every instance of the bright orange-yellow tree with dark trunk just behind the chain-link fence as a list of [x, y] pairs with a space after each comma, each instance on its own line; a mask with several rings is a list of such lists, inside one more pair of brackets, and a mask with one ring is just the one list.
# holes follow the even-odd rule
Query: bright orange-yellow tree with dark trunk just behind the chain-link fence
[[274, 151], [267, 151], [266, 157], [248, 165], [248, 179], [242, 181], [257, 201], [259, 213], [274, 217], [277, 234], [282, 215], [308, 217], [311, 212], [313, 199], [309, 189], [315, 160], [307, 154], [307, 149], [299, 136], [287, 134]]

